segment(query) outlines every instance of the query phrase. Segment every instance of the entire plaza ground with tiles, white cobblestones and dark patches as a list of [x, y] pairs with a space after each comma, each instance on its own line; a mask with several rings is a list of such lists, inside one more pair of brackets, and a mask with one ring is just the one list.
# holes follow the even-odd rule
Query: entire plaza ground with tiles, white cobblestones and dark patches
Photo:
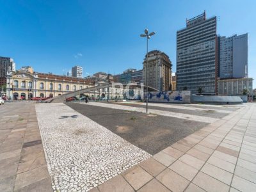
[[256, 104], [1, 106], [0, 191], [256, 191]]

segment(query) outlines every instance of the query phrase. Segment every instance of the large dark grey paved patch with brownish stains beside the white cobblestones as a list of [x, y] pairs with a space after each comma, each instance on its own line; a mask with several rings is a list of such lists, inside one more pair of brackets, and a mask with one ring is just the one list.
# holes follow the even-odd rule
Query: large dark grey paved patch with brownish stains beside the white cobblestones
[[76, 103], [67, 105], [152, 155], [208, 125], [136, 111]]

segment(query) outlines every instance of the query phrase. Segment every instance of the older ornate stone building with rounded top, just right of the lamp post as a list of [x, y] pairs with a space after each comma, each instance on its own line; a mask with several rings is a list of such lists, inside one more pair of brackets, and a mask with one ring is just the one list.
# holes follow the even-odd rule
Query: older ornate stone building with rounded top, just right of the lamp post
[[172, 62], [164, 52], [157, 50], [148, 52], [148, 66], [147, 55], [143, 61], [143, 82], [159, 91], [170, 90]]

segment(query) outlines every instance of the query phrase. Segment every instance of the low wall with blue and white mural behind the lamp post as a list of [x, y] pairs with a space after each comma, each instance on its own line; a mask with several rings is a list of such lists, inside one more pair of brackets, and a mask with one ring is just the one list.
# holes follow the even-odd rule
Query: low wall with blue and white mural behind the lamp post
[[148, 101], [190, 103], [190, 91], [148, 92]]

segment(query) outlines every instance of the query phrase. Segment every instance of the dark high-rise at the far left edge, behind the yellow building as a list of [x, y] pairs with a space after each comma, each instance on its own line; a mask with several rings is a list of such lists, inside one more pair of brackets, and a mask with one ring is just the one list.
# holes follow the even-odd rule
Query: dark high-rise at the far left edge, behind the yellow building
[[9, 67], [15, 72], [16, 65], [13, 59], [0, 56], [0, 86], [6, 84], [6, 74]]

